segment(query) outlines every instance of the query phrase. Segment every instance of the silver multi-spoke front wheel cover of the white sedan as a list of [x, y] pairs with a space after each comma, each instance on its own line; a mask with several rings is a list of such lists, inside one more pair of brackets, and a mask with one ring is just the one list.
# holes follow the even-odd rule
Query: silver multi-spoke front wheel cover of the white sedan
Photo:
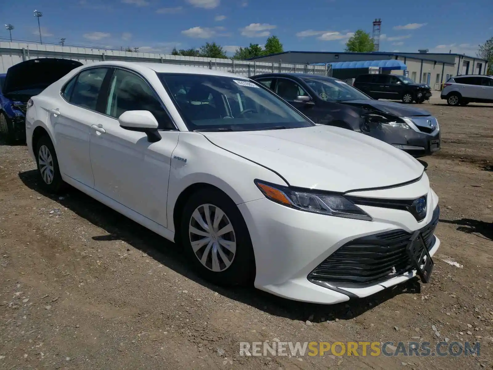
[[192, 250], [200, 263], [214, 272], [226, 270], [236, 255], [236, 235], [228, 216], [217, 206], [202, 204], [188, 224]]

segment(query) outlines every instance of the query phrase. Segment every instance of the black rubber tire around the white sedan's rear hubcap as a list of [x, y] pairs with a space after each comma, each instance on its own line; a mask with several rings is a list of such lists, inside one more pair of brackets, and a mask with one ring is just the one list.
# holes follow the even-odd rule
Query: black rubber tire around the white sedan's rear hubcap
[[[43, 148], [43, 153], [45, 157], [47, 156], [46, 150], [48, 150], [49, 153], [48, 158], [51, 157], [51, 167], [53, 168], [51, 181], [49, 181], [49, 178], [45, 180], [46, 177], [43, 177], [43, 174], [46, 172], [46, 169], [43, 170], [43, 168], [46, 166], [40, 164], [40, 161], [42, 160], [42, 156], [43, 156], [43, 154], [40, 154], [41, 148]], [[41, 136], [39, 138], [39, 140], [36, 143], [34, 154], [36, 157], [37, 172], [39, 175], [39, 181], [41, 187], [53, 194], [57, 194], [61, 192], [65, 187], [65, 182], [62, 180], [62, 175], [60, 173], [60, 167], [58, 166], [58, 158], [55, 152], [55, 148], [53, 147], [53, 143], [51, 142], [51, 139], [47, 135]], [[41, 170], [43, 170], [43, 173], [41, 172]]]

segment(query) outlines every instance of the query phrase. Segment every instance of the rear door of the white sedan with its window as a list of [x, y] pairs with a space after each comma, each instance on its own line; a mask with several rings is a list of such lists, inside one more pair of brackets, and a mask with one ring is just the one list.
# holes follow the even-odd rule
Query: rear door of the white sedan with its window
[[53, 100], [49, 121], [53, 127], [60, 171], [94, 187], [89, 158], [91, 125], [99, 123], [99, 93], [109, 68], [91, 68], [74, 76], [63, 88], [63, 99]]

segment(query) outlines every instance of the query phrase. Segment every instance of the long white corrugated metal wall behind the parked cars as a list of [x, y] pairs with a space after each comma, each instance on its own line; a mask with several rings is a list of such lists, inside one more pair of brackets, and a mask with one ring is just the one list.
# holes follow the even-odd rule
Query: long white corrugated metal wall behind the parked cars
[[202, 57], [184, 57], [181, 55], [165, 55], [152, 53], [136, 53], [119, 50], [91, 49], [75, 46], [41, 45], [18, 42], [0, 42], [0, 73], [14, 64], [35, 58], [67, 58], [83, 64], [104, 60], [119, 60], [127, 62], [168, 63], [183, 66], [202, 67], [244, 76], [254, 74], [309, 73], [326, 75], [325, 66], [310, 66], [306, 64], [256, 62], [231, 59], [215, 59]]

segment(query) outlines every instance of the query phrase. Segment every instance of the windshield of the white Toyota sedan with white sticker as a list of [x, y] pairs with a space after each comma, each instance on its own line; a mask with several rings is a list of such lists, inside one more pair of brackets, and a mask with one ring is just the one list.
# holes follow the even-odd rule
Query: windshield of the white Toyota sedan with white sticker
[[240, 76], [167, 73], [158, 76], [190, 131], [313, 126], [270, 90]]

